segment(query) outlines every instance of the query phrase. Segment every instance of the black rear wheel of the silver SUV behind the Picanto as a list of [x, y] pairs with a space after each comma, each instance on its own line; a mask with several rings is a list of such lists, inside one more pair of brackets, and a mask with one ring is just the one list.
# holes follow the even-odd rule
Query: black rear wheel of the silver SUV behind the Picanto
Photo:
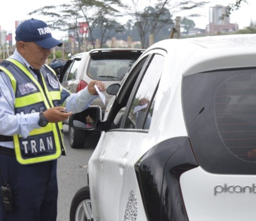
[[69, 127], [70, 146], [73, 149], [83, 148], [86, 139], [86, 132]]

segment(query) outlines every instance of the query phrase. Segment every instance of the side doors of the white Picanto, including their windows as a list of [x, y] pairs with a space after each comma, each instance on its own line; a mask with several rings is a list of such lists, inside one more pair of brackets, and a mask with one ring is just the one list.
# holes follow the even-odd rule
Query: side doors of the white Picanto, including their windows
[[149, 131], [164, 56], [163, 50], [152, 50], [133, 66], [107, 118], [109, 128], [89, 161], [97, 221], [147, 220], [134, 165], [153, 144]]

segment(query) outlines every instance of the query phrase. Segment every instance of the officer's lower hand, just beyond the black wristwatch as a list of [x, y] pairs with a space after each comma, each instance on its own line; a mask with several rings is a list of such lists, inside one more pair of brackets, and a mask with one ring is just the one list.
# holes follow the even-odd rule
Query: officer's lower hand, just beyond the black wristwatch
[[65, 112], [60, 112], [60, 110], [65, 110], [65, 108], [63, 107], [50, 108], [44, 111], [43, 114], [45, 115], [48, 122], [51, 122], [51, 123], [62, 122], [68, 119], [69, 116], [73, 114], [73, 112], [65, 113]]

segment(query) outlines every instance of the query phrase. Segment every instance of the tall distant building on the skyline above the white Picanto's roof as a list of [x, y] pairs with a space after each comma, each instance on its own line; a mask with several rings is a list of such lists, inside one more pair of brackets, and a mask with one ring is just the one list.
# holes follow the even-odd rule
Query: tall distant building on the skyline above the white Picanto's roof
[[230, 17], [220, 17], [226, 13], [227, 7], [216, 5], [209, 8], [209, 24], [206, 26], [206, 32], [216, 34], [219, 32], [235, 32], [239, 27], [236, 23], [230, 23]]

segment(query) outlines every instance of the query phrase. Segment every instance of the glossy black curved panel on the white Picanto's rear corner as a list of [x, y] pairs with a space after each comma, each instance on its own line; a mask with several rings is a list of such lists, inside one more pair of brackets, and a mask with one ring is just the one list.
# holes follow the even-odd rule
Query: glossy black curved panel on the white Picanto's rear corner
[[198, 166], [188, 137], [175, 137], [152, 147], [135, 164], [148, 221], [188, 221], [180, 176]]

